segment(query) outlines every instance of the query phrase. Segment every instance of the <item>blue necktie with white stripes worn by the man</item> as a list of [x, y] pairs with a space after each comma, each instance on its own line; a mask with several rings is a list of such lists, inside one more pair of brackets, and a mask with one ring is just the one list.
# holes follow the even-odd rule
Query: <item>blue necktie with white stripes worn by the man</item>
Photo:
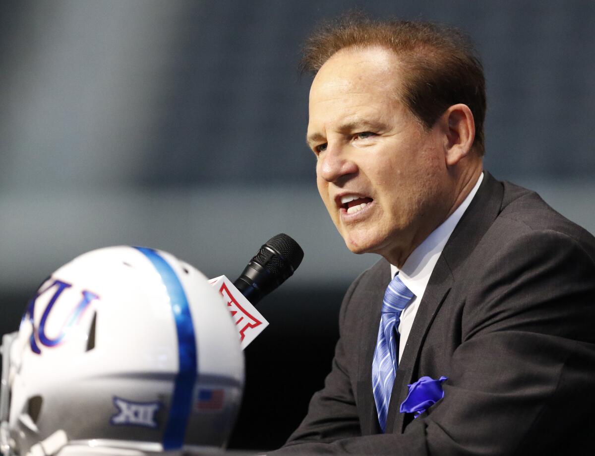
[[386, 430], [390, 393], [393, 390], [394, 374], [399, 364], [396, 338], [399, 337], [400, 316], [414, 296], [401, 282], [398, 273], [384, 292], [378, 342], [374, 351], [374, 360], [372, 360], [372, 391], [374, 391], [378, 423], [382, 432]]

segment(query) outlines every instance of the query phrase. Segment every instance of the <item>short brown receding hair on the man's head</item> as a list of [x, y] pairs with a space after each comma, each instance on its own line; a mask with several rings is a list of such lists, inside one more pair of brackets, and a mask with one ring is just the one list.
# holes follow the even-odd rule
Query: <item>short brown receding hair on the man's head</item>
[[486, 81], [477, 52], [464, 33], [422, 21], [371, 20], [347, 13], [320, 24], [306, 40], [300, 70], [318, 73], [337, 51], [381, 46], [403, 64], [401, 101], [430, 129], [450, 106], [466, 104], [475, 120], [474, 149], [484, 154]]

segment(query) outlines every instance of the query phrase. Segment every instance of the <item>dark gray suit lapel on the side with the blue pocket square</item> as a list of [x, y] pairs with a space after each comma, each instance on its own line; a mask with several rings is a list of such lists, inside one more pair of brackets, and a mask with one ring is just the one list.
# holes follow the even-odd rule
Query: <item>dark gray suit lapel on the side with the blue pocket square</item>
[[[502, 183], [484, 171], [483, 182], [444, 246], [415, 315], [394, 379], [387, 417], [387, 433], [403, 432], [405, 414], [400, 413], [399, 408], [408, 394], [406, 385], [417, 380], [417, 378], [414, 379], [414, 374], [415, 376], [418, 374], [419, 355], [425, 336], [450, 289], [458, 279], [458, 271], [462, 264], [500, 213], [502, 198]], [[372, 358], [369, 360], [370, 365], [371, 360]], [[419, 374], [424, 375], [424, 373]]]

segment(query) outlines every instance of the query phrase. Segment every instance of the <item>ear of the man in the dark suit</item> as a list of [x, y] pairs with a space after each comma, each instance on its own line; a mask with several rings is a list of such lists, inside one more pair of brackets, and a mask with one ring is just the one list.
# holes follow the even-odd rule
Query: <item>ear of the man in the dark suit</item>
[[469, 107], [461, 103], [448, 108], [442, 119], [446, 133], [444, 158], [447, 166], [453, 166], [471, 151], [475, 139], [475, 121]]

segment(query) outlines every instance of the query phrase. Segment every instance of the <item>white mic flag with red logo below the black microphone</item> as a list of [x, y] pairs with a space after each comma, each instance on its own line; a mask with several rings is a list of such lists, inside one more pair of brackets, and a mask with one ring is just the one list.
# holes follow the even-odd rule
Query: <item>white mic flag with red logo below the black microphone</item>
[[209, 280], [209, 283], [221, 293], [227, 303], [227, 308], [240, 335], [242, 349], [245, 349], [268, 326], [268, 321], [226, 276], [215, 277]]

